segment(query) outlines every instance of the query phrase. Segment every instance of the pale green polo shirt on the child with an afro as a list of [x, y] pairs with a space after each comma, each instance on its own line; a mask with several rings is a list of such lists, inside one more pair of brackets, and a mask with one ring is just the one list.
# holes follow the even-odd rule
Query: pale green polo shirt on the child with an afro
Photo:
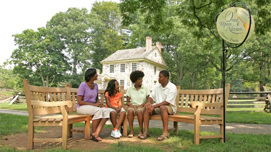
[[126, 92], [126, 96], [130, 97], [130, 103], [133, 105], [141, 105], [142, 103], [146, 102], [147, 96], [151, 94], [148, 87], [141, 85], [141, 87], [136, 90], [135, 85], [128, 88]]

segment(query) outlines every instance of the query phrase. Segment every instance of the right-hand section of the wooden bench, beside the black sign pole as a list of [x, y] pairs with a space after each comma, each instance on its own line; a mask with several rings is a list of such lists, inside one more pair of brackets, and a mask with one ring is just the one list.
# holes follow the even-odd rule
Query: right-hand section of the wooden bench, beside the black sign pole
[[[229, 89], [230, 84], [226, 84], [225, 105], [227, 105]], [[189, 123], [194, 124], [194, 143], [196, 145], [203, 138], [220, 138], [220, 141], [224, 142], [223, 88], [211, 90], [181, 90], [178, 88], [177, 90], [178, 113], [169, 115], [168, 120], [174, 122], [173, 128], [170, 128], [169, 131], [174, 131], [174, 134], [178, 135], [178, 122]], [[128, 110], [127, 105], [125, 110]], [[134, 119], [137, 119], [137, 116], [134, 116]], [[162, 119], [160, 115], [154, 114], [151, 115], [150, 120]], [[219, 135], [200, 135], [200, 125], [203, 124], [218, 124], [220, 127]]]

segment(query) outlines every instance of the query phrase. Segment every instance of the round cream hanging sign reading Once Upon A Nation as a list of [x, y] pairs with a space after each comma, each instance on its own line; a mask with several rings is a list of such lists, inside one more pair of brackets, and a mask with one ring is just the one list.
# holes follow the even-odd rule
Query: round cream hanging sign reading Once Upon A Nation
[[[216, 28], [223, 40], [240, 44], [246, 37], [249, 29], [249, 13], [241, 7], [230, 7], [219, 14], [216, 21]], [[255, 29], [254, 19], [251, 16], [251, 26], [248, 40]]]

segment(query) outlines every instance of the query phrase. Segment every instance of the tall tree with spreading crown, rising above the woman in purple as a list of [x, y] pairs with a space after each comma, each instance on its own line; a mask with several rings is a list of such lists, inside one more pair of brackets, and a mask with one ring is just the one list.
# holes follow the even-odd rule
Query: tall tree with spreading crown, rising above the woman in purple
[[90, 41], [95, 21], [95, 16], [90, 15], [86, 8], [69, 8], [66, 12], [55, 14], [46, 24], [50, 34], [64, 48], [67, 60], [72, 63], [72, 74], [84, 65], [91, 65]]

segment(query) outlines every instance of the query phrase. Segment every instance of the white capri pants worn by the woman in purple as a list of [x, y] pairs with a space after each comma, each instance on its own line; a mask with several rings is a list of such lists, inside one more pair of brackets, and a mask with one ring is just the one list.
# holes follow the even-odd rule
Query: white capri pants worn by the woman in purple
[[101, 119], [101, 118], [110, 118], [110, 112], [108, 108], [100, 108], [90, 105], [82, 105], [77, 108], [76, 112], [78, 114], [93, 115], [92, 120]]

